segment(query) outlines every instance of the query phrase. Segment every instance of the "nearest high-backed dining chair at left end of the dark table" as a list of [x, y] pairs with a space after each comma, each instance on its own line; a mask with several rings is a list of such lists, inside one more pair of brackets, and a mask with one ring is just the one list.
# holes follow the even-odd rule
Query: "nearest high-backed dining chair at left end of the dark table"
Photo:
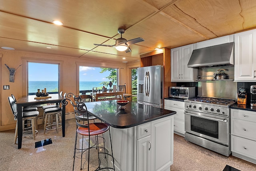
[[[8, 101], [10, 103], [10, 107], [12, 109], [12, 113], [14, 115], [14, 120], [17, 121], [18, 118], [18, 111], [17, 111], [17, 104], [15, 102], [15, 100], [9, 96], [8, 97]], [[30, 130], [30, 127], [26, 127], [24, 128], [24, 121], [25, 120], [31, 120], [31, 129], [32, 129], [32, 134], [28, 135], [28, 136], [24, 136], [24, 137], [30, 137], [33, 136], [33, 139], [36, 140], [36, 136], [35, 134], [38, 132], [38, 130], [36, 129], [36, 117], [39, 115], [38, 111], [27, 111], [27, 112], [22, 112], [22, 123], [23, 123], [23, 133], [28, 132]], [[16, 144], [17, 142], [17, 138], [18, 138], [18, 121], [16, 122], [16, 128], [15, 128], [15, 136], [14, 136], [14, 144]]]

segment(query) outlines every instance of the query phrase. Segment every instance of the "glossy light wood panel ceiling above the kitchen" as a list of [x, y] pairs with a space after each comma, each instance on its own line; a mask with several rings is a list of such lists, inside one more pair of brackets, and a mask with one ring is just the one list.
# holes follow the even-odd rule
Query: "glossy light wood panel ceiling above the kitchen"
[[[131, 45], [129, 53], [94, 46], [115, 44], [120, 27], [126, 28], [123, 38], [145, 41]], [[0, 47], [89, 60], [133, 62], [154, 48], [252, 28], [255, 0], [0, 0]]]

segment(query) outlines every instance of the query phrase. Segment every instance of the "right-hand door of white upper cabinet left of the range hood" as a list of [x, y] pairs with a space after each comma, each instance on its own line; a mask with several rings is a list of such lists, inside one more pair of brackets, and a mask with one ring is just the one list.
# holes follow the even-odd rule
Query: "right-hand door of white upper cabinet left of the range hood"
[[181, 47], [181, 80], [193, 81], [193, 68], [188, 68], [188, 62], [193, 52], [193, 44]]

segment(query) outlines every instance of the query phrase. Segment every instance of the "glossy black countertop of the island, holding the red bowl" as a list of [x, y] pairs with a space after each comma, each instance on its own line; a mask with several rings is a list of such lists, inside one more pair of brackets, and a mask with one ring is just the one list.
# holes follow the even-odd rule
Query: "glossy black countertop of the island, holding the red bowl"
[[95, 101], [85, 104], [90, 114], [115, 128], [129, 128], [176, 114], [176, 111], [136, 102], [129, 102], [125, 110], [118, 109], [119, 105], [116, 100]]

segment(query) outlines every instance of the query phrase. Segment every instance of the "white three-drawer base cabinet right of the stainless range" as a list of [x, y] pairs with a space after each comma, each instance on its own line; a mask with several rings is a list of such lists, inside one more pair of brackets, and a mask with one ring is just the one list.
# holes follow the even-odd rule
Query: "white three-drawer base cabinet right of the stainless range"
[[256, 113], [240, 109], [230, 111], [232, 155], [256, 164]]

